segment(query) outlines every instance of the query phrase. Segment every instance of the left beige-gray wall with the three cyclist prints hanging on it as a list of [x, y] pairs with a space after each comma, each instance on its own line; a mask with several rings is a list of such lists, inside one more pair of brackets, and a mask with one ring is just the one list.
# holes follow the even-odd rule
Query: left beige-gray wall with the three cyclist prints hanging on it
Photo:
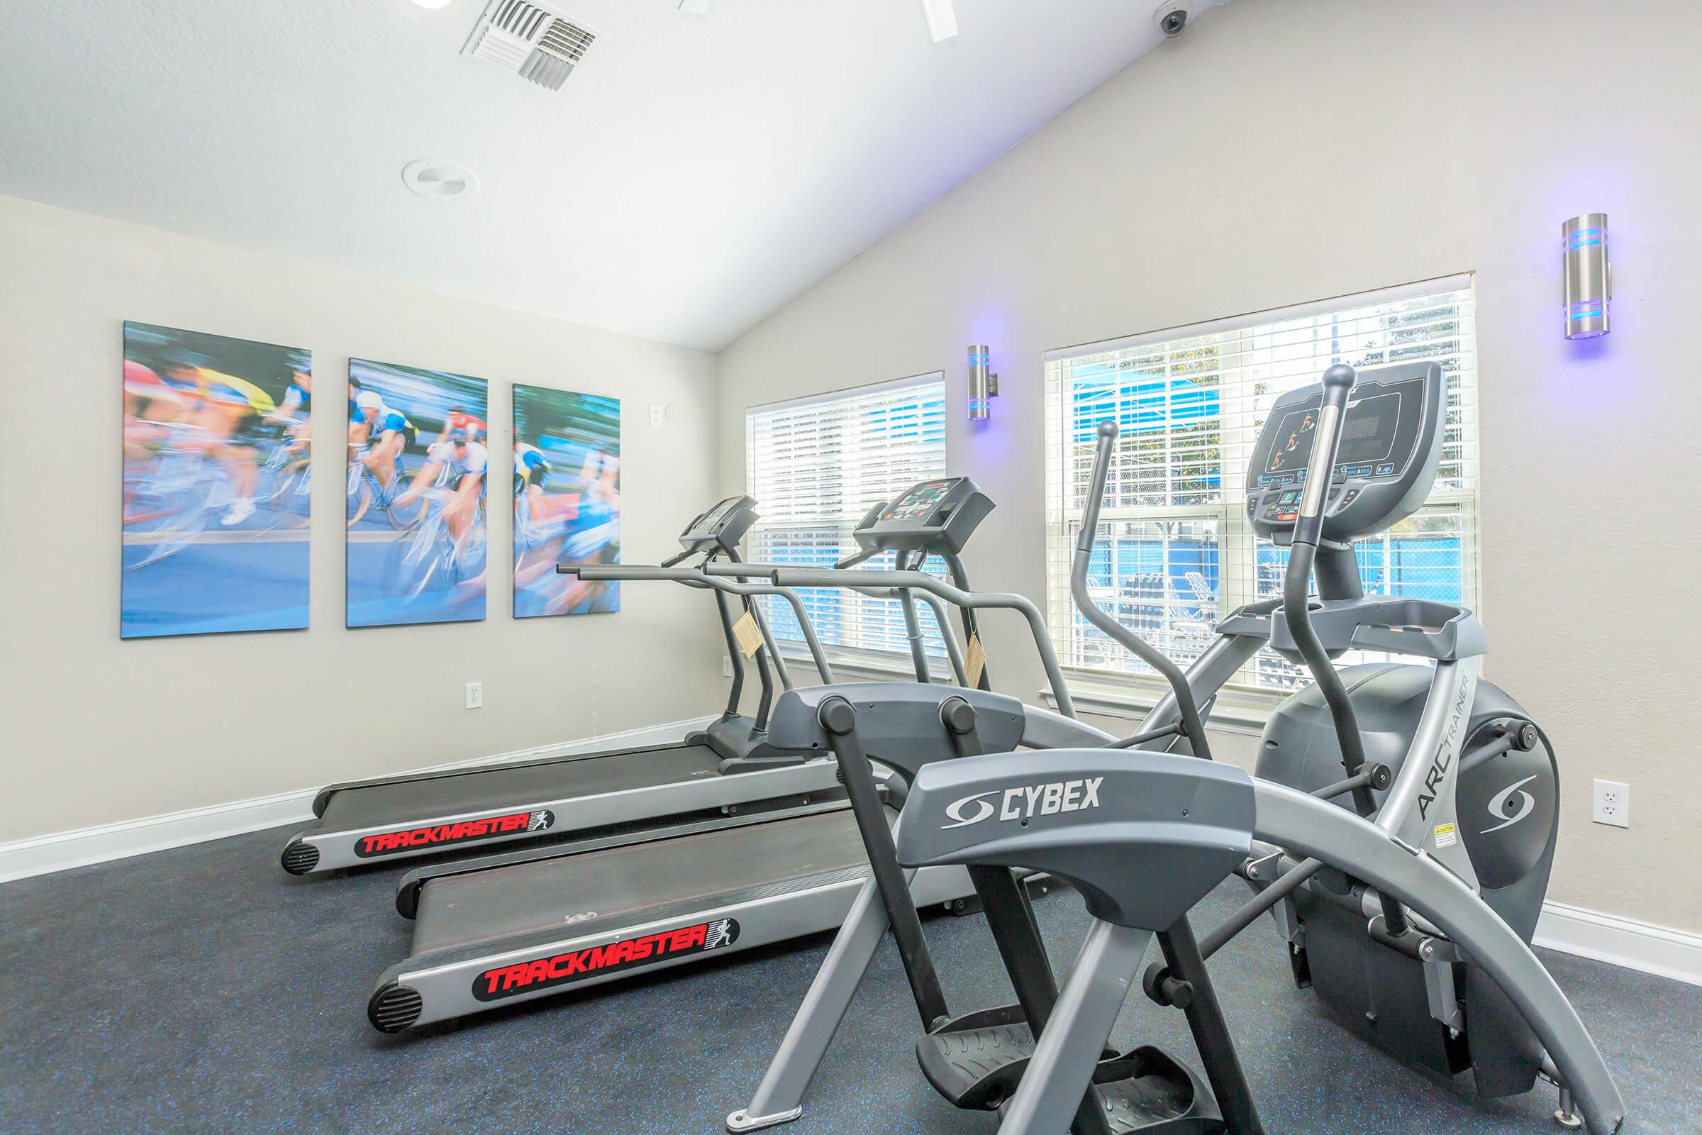
[[[628, 585], [620, 614], [514, 621], [494, 570], [485, 623], [344, 630], [335, 448], [313, 480], [311, 630], [117, 636], [123, 320], [311, 347], [322, 383], [351, 354], [478, 374], [497, 449], [511, 383], [616, 395], [637, 562], [677, 548], [703, 507], [711, 356], [5, 197], [0, 265], [0, 842], [674, 721], [725, 696], [711, 609], [676, 587]], [[652, 427], [650, 403], [676, 420]], [[337, 412], [322, 400], [322, 424]], [[497, 568], [509, 531], [492, 509]], [[461, 708], [468, 681], [483, 710]]]

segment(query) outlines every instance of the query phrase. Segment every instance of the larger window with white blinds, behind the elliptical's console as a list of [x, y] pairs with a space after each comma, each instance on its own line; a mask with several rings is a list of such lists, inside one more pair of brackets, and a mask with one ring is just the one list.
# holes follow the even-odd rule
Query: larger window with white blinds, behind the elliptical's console
[[[1122, 432], [1088, 584], [1118, 621], [1186, 667], [1224, 614], [1282, 592], [1287, 550], [1256, 541], [1241, 507], [1271, 403], [1333, 362], [1413, 359], [1435, 359], [1447, 374], [1442, 466], [1423, 509], [1356, 545], [1360, 575], [1367, 590], [1476, 607], [1469, 276], [1048, 352], [1047, 597], [1059, 660], [1081, 672], [1151, 672], [1069, 596], [1099, 422], [1115, 417]], [[1232, 686], [1283, 691], [1302, 679], [1300, 667], [1263, 650]]]

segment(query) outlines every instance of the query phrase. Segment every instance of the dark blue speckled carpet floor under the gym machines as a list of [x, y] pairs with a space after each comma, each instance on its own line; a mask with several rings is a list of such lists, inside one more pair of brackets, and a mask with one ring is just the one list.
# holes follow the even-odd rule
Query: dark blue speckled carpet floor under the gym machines
[[[745, 1103], [827, 938], [388, 1038], [366, 1023], [408, 924], [397, 873], [289, 880], [259, 832], [0, 887], [0, 1132], [684, 1132]], [[1225, 883], [1200, 926], [1244, 892]], [[1074, 956], [1081, 902], [1038, 902]], [[928, 934], [953, 1009], [1008, 1001], [979, 917]], [[1702, 1132], [1702, 989], [1566, 955], [1544, 961], [1619, 1077], [1627, 1130]], [[1409, 1070], [1295, 990], [1259, 924], [1212, 961], [1271, 1135], [1547, 1135], [1554, 1092], [1482, 1103]], [[991, 1135], [916, 1069], [916, 1011], [890, 944], [786, 1135]], [[1134, 997], [1125, 1040], [1193, 1058], [1174, 1011]]]

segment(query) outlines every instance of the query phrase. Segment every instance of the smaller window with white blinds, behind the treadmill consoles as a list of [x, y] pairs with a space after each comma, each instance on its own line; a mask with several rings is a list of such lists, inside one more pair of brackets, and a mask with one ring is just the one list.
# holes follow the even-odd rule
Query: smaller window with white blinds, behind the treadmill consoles
[[[851, 531], [870, 505], [946, 471], [946, 386], [938, 371], [745, 414], [745, 483], [761, 519], [745, 536], [752, 560], [832, 567], [856, 550]], [[871, 567], [892, 567], [890, 556]], [[798, 592], [822, 645], [902, 653], [897, 602], [831, 589]], [[768, 597], [776, 640], [802, 642], [788, 604]], [[917, 604], [929, 653], [945, 645]]]

